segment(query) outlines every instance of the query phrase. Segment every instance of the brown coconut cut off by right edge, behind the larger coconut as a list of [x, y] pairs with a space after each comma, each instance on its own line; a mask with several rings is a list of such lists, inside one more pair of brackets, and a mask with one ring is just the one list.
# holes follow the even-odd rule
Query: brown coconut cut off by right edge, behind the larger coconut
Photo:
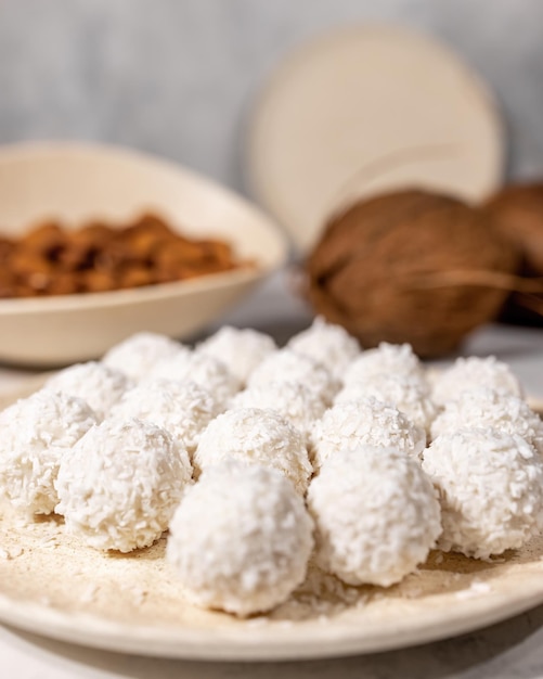
[[[543, 277], [543, 182], [505, 187], [487, 202], [484, 209], [495, 228], [520, 248], [521, 276], [529, 279]], [[513, 293], [502, 318], [543, 325], [543, 293]]]

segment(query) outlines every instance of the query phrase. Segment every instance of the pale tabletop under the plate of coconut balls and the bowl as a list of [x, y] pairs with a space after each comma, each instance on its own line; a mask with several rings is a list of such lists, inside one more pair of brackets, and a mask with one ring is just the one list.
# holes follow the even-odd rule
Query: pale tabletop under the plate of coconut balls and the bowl
[[[223, 321], [284, 342], [310, 322], [303, 304], [276, 276]], [[462, 354], [507, 361], [529, 394], [543, 398], [543, 330], [484, 328]], [[0, 392], [34, 373], [0, 368]], [[202, 663], [139, 657], [61, 643], [0, 626], [0, 679], [543, 679], [543, 606], [469, 635], [423, 646], [300, 663]]]

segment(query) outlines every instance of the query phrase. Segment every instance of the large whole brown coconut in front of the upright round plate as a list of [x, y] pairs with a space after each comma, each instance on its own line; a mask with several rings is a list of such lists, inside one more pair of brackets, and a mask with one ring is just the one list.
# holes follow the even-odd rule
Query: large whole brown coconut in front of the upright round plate
[[328, 222], [307, 260], [308, 296], [364, 347], [409, 342], [432, 357], [495, 318], [518, 266], [516, 247], [482, 210], [401, 191]]

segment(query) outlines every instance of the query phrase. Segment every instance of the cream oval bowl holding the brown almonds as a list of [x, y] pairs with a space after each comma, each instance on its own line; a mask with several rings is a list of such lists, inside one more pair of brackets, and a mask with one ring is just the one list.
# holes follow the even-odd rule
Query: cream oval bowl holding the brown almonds
[[0, 231], [49, 218], [77, 227], [127, 223], [156, 212], [172, 228], [233, 245], [255, 268], [132, 290], [0, 299], [0, 361], [55, 366], [101, 356], [148, 330], [183, 338], [247, 295], [286, 259], [287, 245], [262, 212], [182, 167], [122, 149], [27, 143], [0, 149]]

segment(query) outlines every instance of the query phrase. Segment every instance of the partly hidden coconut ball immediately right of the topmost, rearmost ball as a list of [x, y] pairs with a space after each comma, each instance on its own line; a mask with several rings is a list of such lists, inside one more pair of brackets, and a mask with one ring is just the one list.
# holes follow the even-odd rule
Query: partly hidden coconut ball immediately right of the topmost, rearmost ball
[[344, 374], [344, 383], [367, 382], [382, 373], [412, 376], [425, 381], [425, 370], [411, 344], [382, 342], [376, 349], [367, 349], [352, 361]]

